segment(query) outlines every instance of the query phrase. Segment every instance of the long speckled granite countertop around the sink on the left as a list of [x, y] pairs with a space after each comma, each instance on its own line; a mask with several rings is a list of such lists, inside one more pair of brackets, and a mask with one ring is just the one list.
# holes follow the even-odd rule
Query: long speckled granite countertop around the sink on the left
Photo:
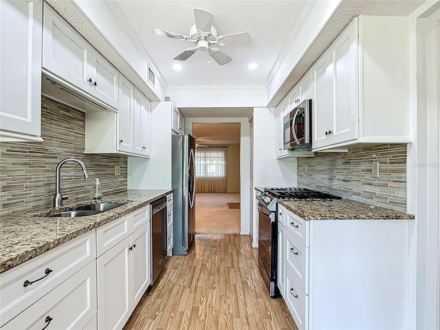
[[[94, 230], [133, 212], [173, 189], [126, 190], [118, 192], [111, 199], [100, 201], [85, 200], [82, 203], [65, 205], [61, 208], [45, 208], [44, 212], [27, 212], [1, 217], [0, 221], [0, 273], [10, 270], [39, 254], [66, 243], [77, 236]], [[61, 218], [45, 217], [65, 210], [71, 210], [89, 203], [127, 202], [123, 206], [88, 217]]]

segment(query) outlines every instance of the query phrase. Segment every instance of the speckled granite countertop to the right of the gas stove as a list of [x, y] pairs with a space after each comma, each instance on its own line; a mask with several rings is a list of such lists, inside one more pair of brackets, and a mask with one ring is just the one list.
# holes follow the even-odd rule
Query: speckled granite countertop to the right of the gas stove
[[278, 199], [277, 201], [305, 220], [414, 219], [413, 214], [351, 199]]

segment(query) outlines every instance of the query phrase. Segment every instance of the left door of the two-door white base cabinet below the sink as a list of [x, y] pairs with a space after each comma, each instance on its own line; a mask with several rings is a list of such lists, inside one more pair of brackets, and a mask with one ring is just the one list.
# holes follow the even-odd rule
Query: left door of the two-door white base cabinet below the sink
[[131, 236], [97, 259], [98, 329], [122, 329], [130, 311]]

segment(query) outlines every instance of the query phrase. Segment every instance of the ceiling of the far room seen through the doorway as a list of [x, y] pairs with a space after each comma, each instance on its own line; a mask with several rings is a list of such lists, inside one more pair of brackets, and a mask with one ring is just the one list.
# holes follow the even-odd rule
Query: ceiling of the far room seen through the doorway
[[192, 124], [192, 136], [197, 144], [239, 144], [239, 123]]

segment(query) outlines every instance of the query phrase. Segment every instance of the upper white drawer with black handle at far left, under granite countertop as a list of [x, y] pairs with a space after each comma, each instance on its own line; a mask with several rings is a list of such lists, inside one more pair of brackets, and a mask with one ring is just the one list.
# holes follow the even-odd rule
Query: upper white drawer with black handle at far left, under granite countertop
[[[0, 327], [95, 258], [96, 236], [91, 230], [0, 274]], [[24, 286], [25, 281], [35, 282]]]

